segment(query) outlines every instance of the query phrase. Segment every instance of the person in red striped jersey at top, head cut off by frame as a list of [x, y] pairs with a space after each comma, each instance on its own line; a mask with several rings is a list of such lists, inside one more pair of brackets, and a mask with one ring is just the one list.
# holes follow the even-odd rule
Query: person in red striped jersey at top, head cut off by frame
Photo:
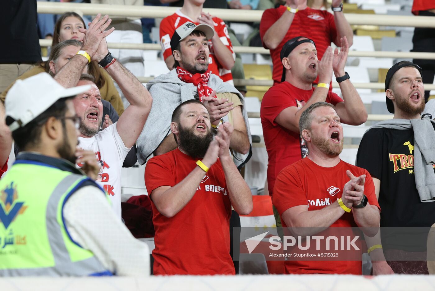
[[351, 46], [353, 39], [352, 28], [343, 14], [342, 0], [332, 0], [334, 15], [326, 10], [311, 9], [307, 0], [284, 2], [285, 5], [278, 8], [264, 10], [260, 21], [263, 47], [271, 52], [274, 85], [280, 82], [282, 64], [279, 56], [288, 40], [298, 35], [309, 35], [317, 43], [321, 59], [331, 42], [338, 46], [340, 38], [347, 37]]

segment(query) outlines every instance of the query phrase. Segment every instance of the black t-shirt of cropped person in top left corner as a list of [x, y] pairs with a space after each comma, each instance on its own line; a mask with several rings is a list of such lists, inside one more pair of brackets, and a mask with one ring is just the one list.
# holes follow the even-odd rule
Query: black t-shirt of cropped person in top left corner
[[41, 61], [36, 0], [4, 0], [0, 9], [0, 64]]

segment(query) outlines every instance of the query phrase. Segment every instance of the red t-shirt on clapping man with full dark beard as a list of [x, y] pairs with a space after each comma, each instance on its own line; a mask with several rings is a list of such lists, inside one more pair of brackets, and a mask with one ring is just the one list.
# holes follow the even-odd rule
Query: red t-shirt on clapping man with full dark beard
[[[197, 159], [178, 148], [151, 158], [145, 168], [148, 194], [160, 186], [175, 186], [197, 167]], [[224, 170], [216, 161], [197, 191], [174, 217], [163, 216], [152, 202], [156, 231], [154, 274], [235, 274], [230, 256], [231, 202]]]

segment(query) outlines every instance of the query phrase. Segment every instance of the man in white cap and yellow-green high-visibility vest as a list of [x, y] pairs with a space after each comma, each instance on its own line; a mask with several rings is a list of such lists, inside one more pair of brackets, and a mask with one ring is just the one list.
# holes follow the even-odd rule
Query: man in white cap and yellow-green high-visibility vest
[[7, 94], [6, 123], [23, 152], [0, 180], [2, 277], [149, 274], [147, 245], [94, 182], [94, 153], [76, 148], [73, 99], [89, 89], [65, 89], [41, 73], [17, 80]]

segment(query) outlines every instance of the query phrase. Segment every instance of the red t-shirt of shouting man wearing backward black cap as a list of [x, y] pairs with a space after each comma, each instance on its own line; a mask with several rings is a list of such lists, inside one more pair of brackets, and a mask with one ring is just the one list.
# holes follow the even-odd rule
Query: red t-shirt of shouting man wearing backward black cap
[[[275, 118], [287, 107], [301, 108], [314, 93], [302, 90], [288, 82], [271, 87], [261, 100], [261, 125], [263, 126], [264, 144], [268, 151], [268, 188], [272, 196], [275, 177], [288, 165], [305, 157], [308, 149], [299, 133], [288, 130], [275, 122]], [[343, 100], [329, 91], [326, 102], [336, 105]]]

